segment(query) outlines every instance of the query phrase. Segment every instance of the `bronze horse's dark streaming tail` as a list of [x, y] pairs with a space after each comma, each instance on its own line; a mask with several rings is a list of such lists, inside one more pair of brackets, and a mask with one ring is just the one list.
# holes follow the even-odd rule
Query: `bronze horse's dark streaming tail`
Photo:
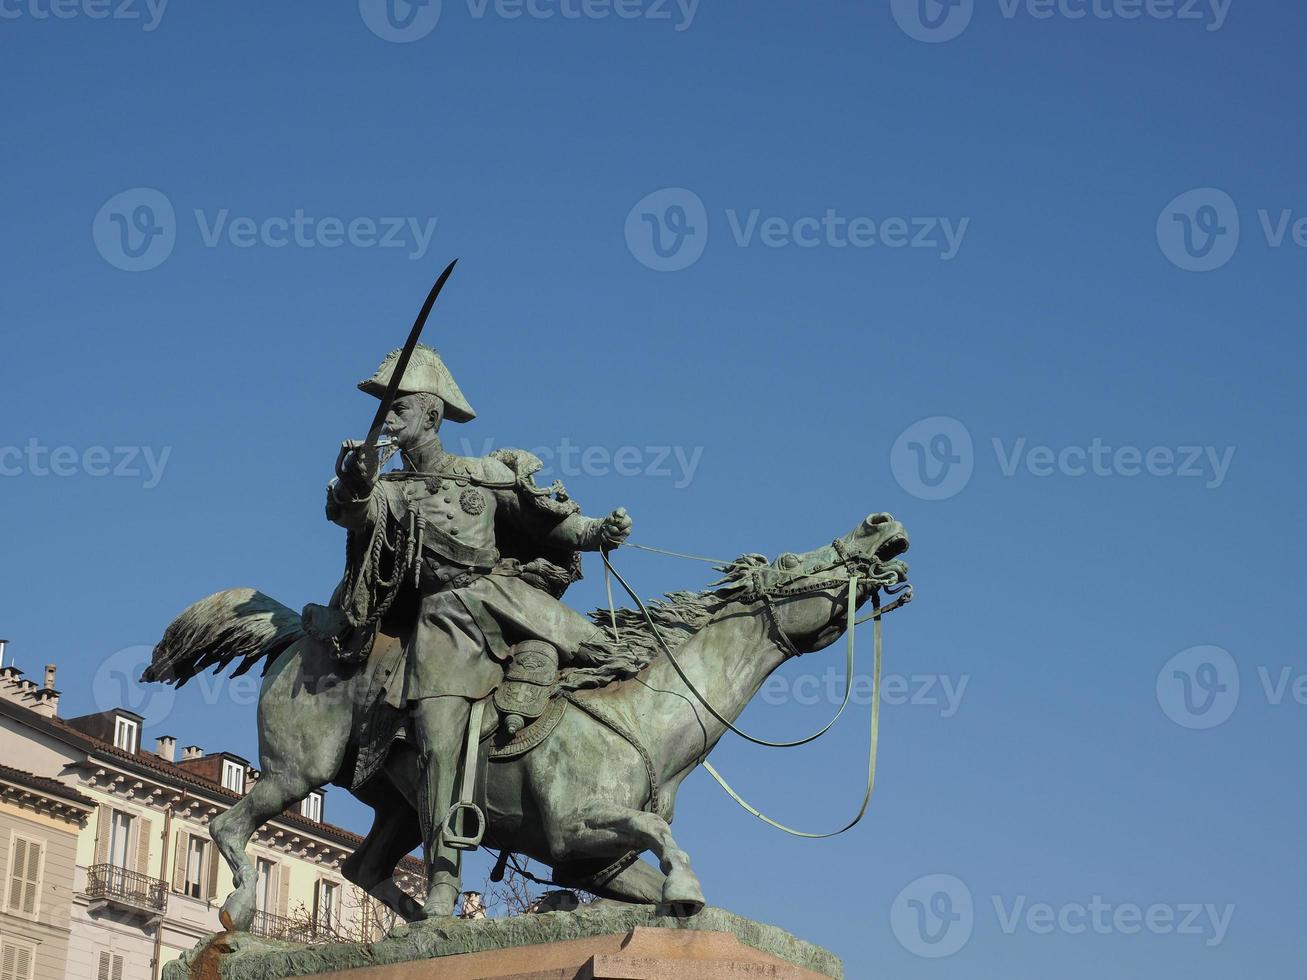
[[239, 677], [255, 664], [271, 664], [305, 635], [299, 613], [255, 589], [227, 589], [201, 598], [174, 619], [154, 647], [142, 681], [184, 685], [213, 668], [222, 670], [234, 660]]

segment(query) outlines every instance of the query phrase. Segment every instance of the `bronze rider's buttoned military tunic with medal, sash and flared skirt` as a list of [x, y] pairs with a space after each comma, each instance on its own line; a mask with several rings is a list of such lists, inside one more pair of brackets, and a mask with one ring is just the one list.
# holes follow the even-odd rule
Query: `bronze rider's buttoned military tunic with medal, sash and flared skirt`
[[[538, 468], [529, 453], [512, 451], [446, 455], [433, 473], [384, 474], [365, 499], [329, 495], [328, 517], [350, 531], [350, 553], [361, 555], [336, 598], [352, 625], [391, 589], [417, 592], [417, 622], [399, 627], [403, 669], [386, 686], [392, 707], [485, 698], [502, 681], [514, 643], [546, 640], [566, 660], [600, 634], [523, 576], [532, 558], [557, 559], [552, 567], [562, 571], [597, 533], [597, 521], [582, 517], [559, 485], [535, 485]], [[384, 558], [389, 574], [376, 567]]]

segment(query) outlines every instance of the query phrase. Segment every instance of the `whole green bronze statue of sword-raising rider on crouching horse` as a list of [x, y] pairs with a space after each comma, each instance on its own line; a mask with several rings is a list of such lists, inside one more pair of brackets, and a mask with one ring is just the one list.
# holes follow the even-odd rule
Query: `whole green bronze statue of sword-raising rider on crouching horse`
[[[444, 451], [442, 425], [476, 414], [417, 342], [448, 272], [409, 342], [359, 384], [380, 404], [327, 490], [346, 537], [331, 601], [295, 613], [248, 588], [209, 596], [167, 627], [145, 673], [264, 674], [263, 775], [212, 825], [235, 882], [229, 929], [255, 915], [255, 830], [327, 784], [375, 810], [345, 877], [406, 920], [452, 915], [461, 853], [481, 845], [601, 898], [698, 911], [670, 830], [681, 781], [782, 664], [846, 632], [851, 655], [853, 613], [870, 600], [878, 653], [880, 593], [906, 581], [907, 533], [873, 514], [813, 550], [723, 562], [704, 592], [589, 617], [566, 606], [582, 553], [610, 567], [631, 520], [583, 516], [561, 483], [537, 486], [531, 453]], [[393, 879], [418, 844], [423, 904]]]

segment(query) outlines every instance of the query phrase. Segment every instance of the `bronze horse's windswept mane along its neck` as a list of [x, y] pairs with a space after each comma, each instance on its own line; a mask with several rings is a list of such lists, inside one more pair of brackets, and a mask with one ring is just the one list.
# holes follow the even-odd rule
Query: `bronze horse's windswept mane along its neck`
[[[702, 630], [724, 605], [749, 584], [749, 572], [767, 559], [746, 554], [727, 564], [715, 566], [723, 578], [703, 592], [668, 592], [663, 598], [646, 602], [663, 643], [674, 653]], [[617, 636], [613, 635], [613, 614]], [[634, 677], [663, 656], [663, 647], [638, 609], [596, 609], [589, 618], [601, 634], [583, 644], [576, 666], [563, 670], [561, 686], [566, 691], [604, 687], [613, 681]]]

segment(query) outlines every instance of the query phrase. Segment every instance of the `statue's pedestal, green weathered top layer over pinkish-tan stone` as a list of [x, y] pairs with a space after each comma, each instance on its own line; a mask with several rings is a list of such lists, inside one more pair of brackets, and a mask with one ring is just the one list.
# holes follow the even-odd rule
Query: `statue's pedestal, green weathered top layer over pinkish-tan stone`
[[827, 950], [706, 908], [582, 907], [514, 919], [400, 926], [369, 943], [297, 946], [225, 933], [169, 963], [163, 980], [840, 980]]

